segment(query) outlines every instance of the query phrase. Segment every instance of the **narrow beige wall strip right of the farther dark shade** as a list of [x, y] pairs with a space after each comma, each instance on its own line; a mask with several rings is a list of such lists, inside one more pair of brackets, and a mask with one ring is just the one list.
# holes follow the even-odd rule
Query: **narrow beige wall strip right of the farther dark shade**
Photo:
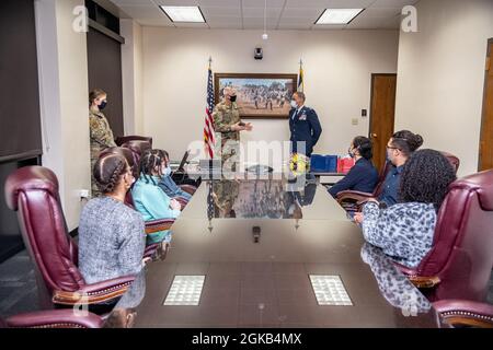
[[133, 20], [121, 20], [122, 82], [125, 135], [144, 133], [142, 27]]

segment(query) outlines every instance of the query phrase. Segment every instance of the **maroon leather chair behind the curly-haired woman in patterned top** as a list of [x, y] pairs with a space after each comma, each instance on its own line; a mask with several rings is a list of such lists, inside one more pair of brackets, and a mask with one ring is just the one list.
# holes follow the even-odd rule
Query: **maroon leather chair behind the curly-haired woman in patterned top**
[[398, 266], [431, 301], [484, 302], [493, 267], [493, 170], [449, 186], [432, 249], [415, 269]]

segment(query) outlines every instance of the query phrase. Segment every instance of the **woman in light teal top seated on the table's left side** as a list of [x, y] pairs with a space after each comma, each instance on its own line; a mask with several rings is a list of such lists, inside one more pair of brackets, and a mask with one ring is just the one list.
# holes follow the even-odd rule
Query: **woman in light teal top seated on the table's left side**
[[[145, 221], [158, 219], [176, 219], [181, 205], [158, 186], [161, 180], [165, 162], [158, 150], [146, 152], [140, 159], [140, 177], [131, 189], [134, 206]], [[147, 244], [170, 242], [169, 230], [148, 234]]]

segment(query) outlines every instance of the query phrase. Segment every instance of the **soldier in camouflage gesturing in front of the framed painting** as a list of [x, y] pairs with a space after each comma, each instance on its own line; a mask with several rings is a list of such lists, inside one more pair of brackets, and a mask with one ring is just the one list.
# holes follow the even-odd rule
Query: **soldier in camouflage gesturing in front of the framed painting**
[[251, 131], [250, 122], [243, 124], [238, 110], [237, 92], [231, 86], [225, 88], [225, 98], [216, 105], [213, 113], [214, 129], [217, 139], [221, 140], [220, 151], [222, 168], [236, 171], [236, 163], [239, 161], [240, 152], [240, 131]]

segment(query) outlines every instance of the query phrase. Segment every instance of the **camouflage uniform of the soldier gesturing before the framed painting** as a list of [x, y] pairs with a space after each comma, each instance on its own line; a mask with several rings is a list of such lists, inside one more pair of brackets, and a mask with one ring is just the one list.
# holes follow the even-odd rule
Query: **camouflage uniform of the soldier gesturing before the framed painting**
[[226, 102], [218, 103], [214, 108], [213, 119], [216, 138], [221, 140], [220, 151], [217, 153], [221, 155], [222, 166], [229, 160], [228, 164], [233, 163], [233, 166], [228, 170], [234, 171], [240, 152], [240, 131], [231, 131], [231, 126], [241, 121], [237, 103], [233, 102], [230, 106]]

